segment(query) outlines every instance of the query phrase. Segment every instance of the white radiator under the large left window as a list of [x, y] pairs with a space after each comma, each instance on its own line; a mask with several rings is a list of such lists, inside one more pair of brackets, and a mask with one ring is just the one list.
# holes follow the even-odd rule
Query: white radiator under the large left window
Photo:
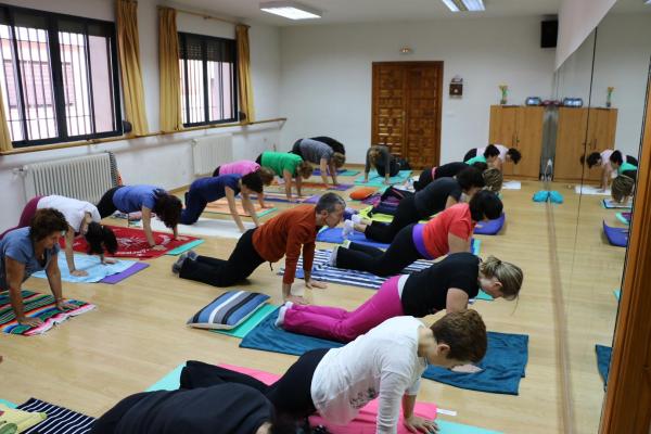
[[98, 203], [106, 190], [117, 184], [115, 167], [110, 152], [23, 166], [25, 199], [59, 194]]

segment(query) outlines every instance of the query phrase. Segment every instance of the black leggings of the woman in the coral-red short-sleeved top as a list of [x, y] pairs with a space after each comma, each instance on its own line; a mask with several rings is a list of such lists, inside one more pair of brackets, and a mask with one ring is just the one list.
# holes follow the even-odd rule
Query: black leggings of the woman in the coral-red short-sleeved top
[[369, 271], [375, 276], [394, 276], [422, 255], [413, 245], [411, 232], [416, 225], [409, 225], [396, 234], [393, 242], [383, 252], [380, 248], [350, 243], [348, 248], [339, 247], [336, 266], [350, 270]]

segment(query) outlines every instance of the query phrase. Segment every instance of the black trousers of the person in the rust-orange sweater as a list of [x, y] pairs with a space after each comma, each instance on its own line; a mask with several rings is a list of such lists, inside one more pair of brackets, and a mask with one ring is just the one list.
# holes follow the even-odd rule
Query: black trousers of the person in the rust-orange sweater
[[250, 229], [238, 241], [235, 250], [228, 260], [209, 256], [197, 256], [183, 261], [179, 277], [212, 284], [213, 286], [230, 286], [246, 279], [265, 261], [253, 246], [253, 232]]

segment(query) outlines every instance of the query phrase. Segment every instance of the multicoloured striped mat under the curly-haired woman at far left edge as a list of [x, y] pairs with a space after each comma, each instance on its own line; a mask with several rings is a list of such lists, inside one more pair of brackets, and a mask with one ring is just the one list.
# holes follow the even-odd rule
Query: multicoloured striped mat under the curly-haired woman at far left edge
[[23, 309], [28, 318], [40, 318], [43, 323], [34, 328], [21, 326], [11, 307], [9, 291], [0, 292], [0, 330], [8, 334], [22, 334], [34, 336], [42, 334], [63, 321], [86, 314], [95, 308], [94, 305], [78, 299], [66, 298], [66, 303], [76, 305], [77, 308], [67, 311], [56, 309], [56, 303], [52, 295], [40, 294], [31, 291], [21, 291], [23, 297]]

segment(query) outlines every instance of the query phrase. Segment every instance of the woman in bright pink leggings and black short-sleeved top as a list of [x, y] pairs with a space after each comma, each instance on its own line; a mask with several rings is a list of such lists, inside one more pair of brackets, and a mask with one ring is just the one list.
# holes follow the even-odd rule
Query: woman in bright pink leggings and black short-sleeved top
[[522, 280], [522, 270], [513, 264], [494, 256], [482, 261], [472, 253], [455, 253], [425, 270], [390, 278], [354, 311], [285, 303], [277, 326], [294, 333], [350, 342], [388, 318], [464, 310], [480, 288], [494, 298], [514, 299]]

